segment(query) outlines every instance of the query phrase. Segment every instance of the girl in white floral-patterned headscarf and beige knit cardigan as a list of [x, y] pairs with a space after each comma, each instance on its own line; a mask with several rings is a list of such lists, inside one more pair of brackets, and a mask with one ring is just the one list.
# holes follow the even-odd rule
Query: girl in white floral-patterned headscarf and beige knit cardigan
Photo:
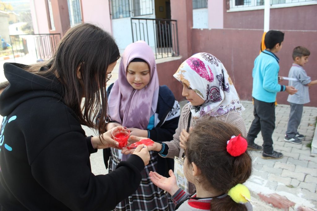
[[[173, 76], [183, 84], [182, 95], [189, 102], [183, 107], [173, 140], [156, 142], [149, 150], [164, 158], [182, 158], [188, 130], [201, 118], [234, 125], [246, 137], [241, 117], [244, 108], [221, 61], [209, 53], [197, 53], [186, 59]], [[194, 185], [189, 184], [189, 193], [194, 192]]]

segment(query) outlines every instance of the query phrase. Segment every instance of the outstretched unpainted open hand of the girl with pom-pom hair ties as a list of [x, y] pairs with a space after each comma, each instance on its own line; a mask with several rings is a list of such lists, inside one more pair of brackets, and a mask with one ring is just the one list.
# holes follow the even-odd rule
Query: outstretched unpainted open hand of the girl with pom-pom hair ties
[[176, 177], [173, 171], [170, 170], [168, 173], [170, 175], [168, 178], [163, 177], [162, 175], [153, 171], [150, 171], [149, 175], [153, 184], [158, 186], [160, 189], [166, 190], [169, 194], [174, 195], [179, 188], [177, 186]]

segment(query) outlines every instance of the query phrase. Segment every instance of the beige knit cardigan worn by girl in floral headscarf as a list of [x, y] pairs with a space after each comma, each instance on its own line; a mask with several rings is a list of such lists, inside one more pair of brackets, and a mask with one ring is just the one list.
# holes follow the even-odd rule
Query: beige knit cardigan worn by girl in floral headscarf
[[[182, 113], [179, 117], [178, 121], [178, 127], [175, 131], [175, 134], [173, 135], [173, 140], [163, 142], [168, 146], [168, 153], [164, 158], [174, 158], [175, 156], [178, 156], [178, 158], [182, 157], [182, 154], [184, 152], [183, 148], [180, 148], [179, 146], [179, 136], [183, 129], [187, 128], [188, 124], [188, 117], [191, 112], [191, 109], [189, 108], [189, 103], [185, 104]], [[231, 125], [236, 126], [240, 131], [241, 135], [245, 138], [247, 137], [247, 130], [245, 128], [245, 124], [243, 121], [242, 116], [235, 110], [229, 111], [228, 113], [222, 115], [222, 116], [209, 116], [205, 115], [202, 118], [210, 118], [210, 120], [220, 120], [226, 123], [229, 123]], [[196, 125], [197, 119], [191, 118], [190, 126], [193, 127]], [[193, 184], [189, 185], [189, 192], [190, 194], [193, 194], [195, 192], [195, 186]]]

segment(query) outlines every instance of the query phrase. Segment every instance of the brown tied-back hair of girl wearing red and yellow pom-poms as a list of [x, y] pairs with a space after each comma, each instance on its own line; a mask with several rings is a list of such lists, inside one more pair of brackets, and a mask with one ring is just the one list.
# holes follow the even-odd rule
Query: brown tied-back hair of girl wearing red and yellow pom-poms
[[[241, 132], [235, 126], [222, 121], [202, 118], [190, 132], [185, 155], [188, 164], [194, 162], [201, 171], [198, 182], [206, 184], [206, 190], [215, 189], [222, 193], [251, 175], [252, 162], [248, 152], [233, 157], [227, 152], [227, 141]], [[208, 185], [209, 184], [209, 185]], [[244, 204], [234, 202], [229, 195], [213, 198], [210, 210], [247, 210]]]

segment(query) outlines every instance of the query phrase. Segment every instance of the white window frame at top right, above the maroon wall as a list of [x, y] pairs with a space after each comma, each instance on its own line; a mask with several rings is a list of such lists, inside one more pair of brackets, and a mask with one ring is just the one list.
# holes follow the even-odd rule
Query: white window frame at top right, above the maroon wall
[[[264, 5], [256, 6], [256, 0], [250, 0], [251, 6], [246, 5], [233, 5], [235, 4], [235, 0], [230, 0], [230, 5], [233, 5], [227, 12], [239, 12], [239, 11], [248, 11], [248, 10], [259, 10], [264, 9]], [[272, 1], [272, 0], [271, 0]], [[296, 2], [294, 2], [296, 1]], [[300, 1], [300, 2], [298, 2]], [[285, 0], [285, 3], [280, 4], [271, 4], [270, 9], [275, 8], [285, 8], [285, 7], [297, 7], [297, 6], [305, 6], [305, 5], [314, 5], [317, 4], [317, 0], [303, 1], [303, 0]]]

